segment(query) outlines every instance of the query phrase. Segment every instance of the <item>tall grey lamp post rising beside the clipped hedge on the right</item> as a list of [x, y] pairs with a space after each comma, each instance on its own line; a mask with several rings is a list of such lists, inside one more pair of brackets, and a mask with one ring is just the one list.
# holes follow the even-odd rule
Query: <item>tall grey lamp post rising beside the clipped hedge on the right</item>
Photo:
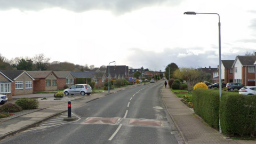
[[[221, 98], [221, 87], [222, 87], [222, 82], [221, 82], [221, 44], [220, 44], [220, 15], [218, 13], [198, 13], [198, 12], [184, 12], [184, 14], [217, 14], [219, 17], [219, 88], [220, 88], [220, 98]], [[222, 133], [221, 126], [220, 126], [220, 119], [219, 119], [219, 127], [220, 127], [220, 133]]]

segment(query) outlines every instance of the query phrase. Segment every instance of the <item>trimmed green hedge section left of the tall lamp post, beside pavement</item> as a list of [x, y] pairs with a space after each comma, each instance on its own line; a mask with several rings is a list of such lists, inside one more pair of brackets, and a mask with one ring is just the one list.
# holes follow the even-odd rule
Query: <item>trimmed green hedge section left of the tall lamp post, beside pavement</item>
[[194, 111], [215, 129], [219, 129], [219, 91], [196, 89], [193, 92]]

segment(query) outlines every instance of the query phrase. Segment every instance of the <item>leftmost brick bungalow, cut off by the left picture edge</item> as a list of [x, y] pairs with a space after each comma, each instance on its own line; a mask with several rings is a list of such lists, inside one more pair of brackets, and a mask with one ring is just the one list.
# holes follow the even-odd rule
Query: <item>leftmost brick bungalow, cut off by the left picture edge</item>
[[12, 83], [14, 83], [13, 79], [0, 70], [0, 94], [6, 95], [8, 100], [12, 100], [12, 91], [14, 91]]

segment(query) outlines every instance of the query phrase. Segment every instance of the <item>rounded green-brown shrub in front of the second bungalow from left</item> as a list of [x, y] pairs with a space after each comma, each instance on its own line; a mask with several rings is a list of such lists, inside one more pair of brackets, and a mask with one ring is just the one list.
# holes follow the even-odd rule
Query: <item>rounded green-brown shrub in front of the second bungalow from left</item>
[[22, 109], [36, 109], [39, 106], [39, 101], [37, 99], [30, 98], [20, 98], [15, 103]]

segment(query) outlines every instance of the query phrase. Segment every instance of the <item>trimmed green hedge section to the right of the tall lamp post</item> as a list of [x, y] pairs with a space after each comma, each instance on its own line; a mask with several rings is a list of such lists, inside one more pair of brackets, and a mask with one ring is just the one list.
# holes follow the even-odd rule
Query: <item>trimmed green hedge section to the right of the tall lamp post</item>
[[223, 133], [240, 136], [256, 131], [256, 95], [221, 95], [220, 124]]

